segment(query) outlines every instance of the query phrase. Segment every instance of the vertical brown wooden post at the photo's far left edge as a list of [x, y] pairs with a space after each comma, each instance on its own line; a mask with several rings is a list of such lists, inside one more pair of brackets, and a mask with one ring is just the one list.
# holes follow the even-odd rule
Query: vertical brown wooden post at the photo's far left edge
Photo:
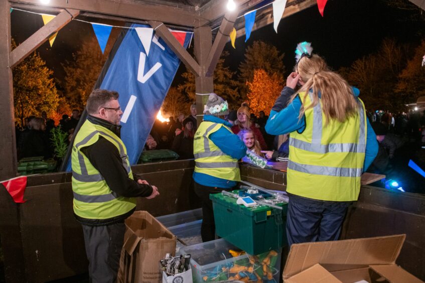
[[16, 176], [16, 137], [11, 52], [11, 16], [7, 0], [0, 0], [0, 181]]

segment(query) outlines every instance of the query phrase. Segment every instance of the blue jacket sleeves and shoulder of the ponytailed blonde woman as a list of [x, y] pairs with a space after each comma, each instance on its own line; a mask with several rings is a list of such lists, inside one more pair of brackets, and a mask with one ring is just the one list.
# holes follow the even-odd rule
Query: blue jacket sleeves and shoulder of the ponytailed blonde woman
[[[355, 87], [353, 87], [353, 92], [355, 96], [359, 96], [360, 94], [360, 91]], [[300, 96], [297, 96], [290, 104], [288, 104], [294, 93], [294, 89], [288, 86], [282, 89], [280, 96], [276, 99], [274, 106], [271, 108], [270, 115], [268, 116], [268, 120], [265, 125], [265, 131], [267, 133], [278, 135], [290, 133], [296, 130], [302, 132], [305, 129], [305, 119], [298, 118], [302, 105]], [[363, 172], [369, 168], [378, 153], [378, 142], [368, 118], [366, 118], [366, 124], [367, 137]]]

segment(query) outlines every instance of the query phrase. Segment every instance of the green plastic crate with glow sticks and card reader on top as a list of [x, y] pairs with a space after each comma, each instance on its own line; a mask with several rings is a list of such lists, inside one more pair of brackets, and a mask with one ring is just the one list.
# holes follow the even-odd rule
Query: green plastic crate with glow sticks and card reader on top
[[[239, 191], [232, 193], [238, 194]], [[216, 234], [248, 254], [259, 254], [279, 249], [287, 244], [286, 215], [288, 203], [283, 209], [267, 206], [245, 207], [236, 199], [219, 194], [210, 195], [213, 203]]]

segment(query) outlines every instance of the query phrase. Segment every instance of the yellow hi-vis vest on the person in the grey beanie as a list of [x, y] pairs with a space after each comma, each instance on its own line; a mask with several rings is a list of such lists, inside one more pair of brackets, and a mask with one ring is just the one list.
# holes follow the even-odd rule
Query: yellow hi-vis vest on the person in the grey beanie
[[240, 181], [238, 160], [223, 153], [209, 138], [209, 135], [221, 127], [231, 133], [232, 130], [221, 124], [203, 121], [196, 130], [193, 140], [195, 172], [207, 174], [230, 181]]

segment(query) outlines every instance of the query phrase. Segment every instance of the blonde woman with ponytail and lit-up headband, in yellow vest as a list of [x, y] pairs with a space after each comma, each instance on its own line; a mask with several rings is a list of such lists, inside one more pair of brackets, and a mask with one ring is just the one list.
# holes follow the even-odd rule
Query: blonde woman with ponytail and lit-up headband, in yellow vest
[[361, 174], [378, 151], [360, 91], [312, 51], [310, 43], [297, 46], [295, 72], [265, 125], [269, 134], [290, 133], [289, 245], [338, 240]]

